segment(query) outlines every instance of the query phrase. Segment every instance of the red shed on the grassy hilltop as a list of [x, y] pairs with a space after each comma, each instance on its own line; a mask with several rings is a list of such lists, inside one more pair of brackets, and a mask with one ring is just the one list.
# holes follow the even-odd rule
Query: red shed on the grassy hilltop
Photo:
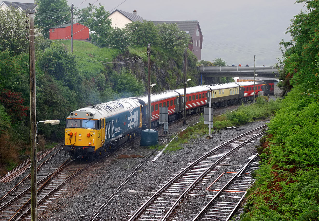
[[[73, 39], [86, 40], [90, 37], [89, 28], [79, 23], [73, 24]], [[57, 25], [49, 29], [49, 39], [71, 39], [71, 24]]]

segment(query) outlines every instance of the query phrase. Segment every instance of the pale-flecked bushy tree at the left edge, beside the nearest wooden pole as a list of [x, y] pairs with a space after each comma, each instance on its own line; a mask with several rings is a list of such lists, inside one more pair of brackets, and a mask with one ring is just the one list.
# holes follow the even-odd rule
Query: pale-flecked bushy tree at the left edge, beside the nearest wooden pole
[[20, 54], [29, 48], [26, 40], [26, 17], [15, 8], [0, 9], [0, 51]]

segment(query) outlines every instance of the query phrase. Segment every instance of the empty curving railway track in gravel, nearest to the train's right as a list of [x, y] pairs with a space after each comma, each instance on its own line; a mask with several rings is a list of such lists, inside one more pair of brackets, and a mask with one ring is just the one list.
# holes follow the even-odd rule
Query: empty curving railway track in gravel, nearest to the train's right
[[[262, 130], [266, 126], [251, 130], [238, 136], [208, 152], [196, 161], [190, 163], [181, 172], [164, 184], [152, 195], [129, 219], [133, 220], [168, 220], [182, 199], [189, 195], [192, 189], [210, 173], [217, 170], [218, 165], [223, 163], [231, 154], [243, 149], [246, 144], [253, 142], [263, 135]], [[243, 162], [244, 163], [244, 162]], [[243, 164], [242, 163], [242, 164]], [[244, 165], [246, 165], [245, 163]], [[244, 166], [236, 172], [239, 175]], [[228, 181], [228, 184], [230, 181]], [[222, 192], [224, 189], [220, 189]], [[214, 196], [212, 196], [214, 198]], [[215, 197], [216, 198], [216, 197]], [[211, 205], [211, 204], [210, 204]], [[204, 210], [206, 211], [206, 210]], [[200, 217], [201, 215], [198, 215]]]

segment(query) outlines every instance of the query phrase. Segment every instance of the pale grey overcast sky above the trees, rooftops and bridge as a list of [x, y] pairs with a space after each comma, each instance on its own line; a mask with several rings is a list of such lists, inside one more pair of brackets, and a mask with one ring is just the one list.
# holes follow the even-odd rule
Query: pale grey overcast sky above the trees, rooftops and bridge
[[[30, 0], [15, 0], [31, 2]], [[84, 1], [84, 2], [83, 2]], [[69, 0], [83, 8], [96, 0]], [[82, 3], [83, 2], [83, 3]], [[122, 3], [124, 2], [124, 3]], [[294, 0], [97, 0], [108, 11], [137, 11], [145, 20], [198, 20], [204, 41], [202, 59], [222, 58], [227, 65], [272, 66], [281, 57], [279, 42], [304, 4]], [[122, 3], [122, 4], [121, 4]], [[117, 5], [120, 6], [116, 7]]]

